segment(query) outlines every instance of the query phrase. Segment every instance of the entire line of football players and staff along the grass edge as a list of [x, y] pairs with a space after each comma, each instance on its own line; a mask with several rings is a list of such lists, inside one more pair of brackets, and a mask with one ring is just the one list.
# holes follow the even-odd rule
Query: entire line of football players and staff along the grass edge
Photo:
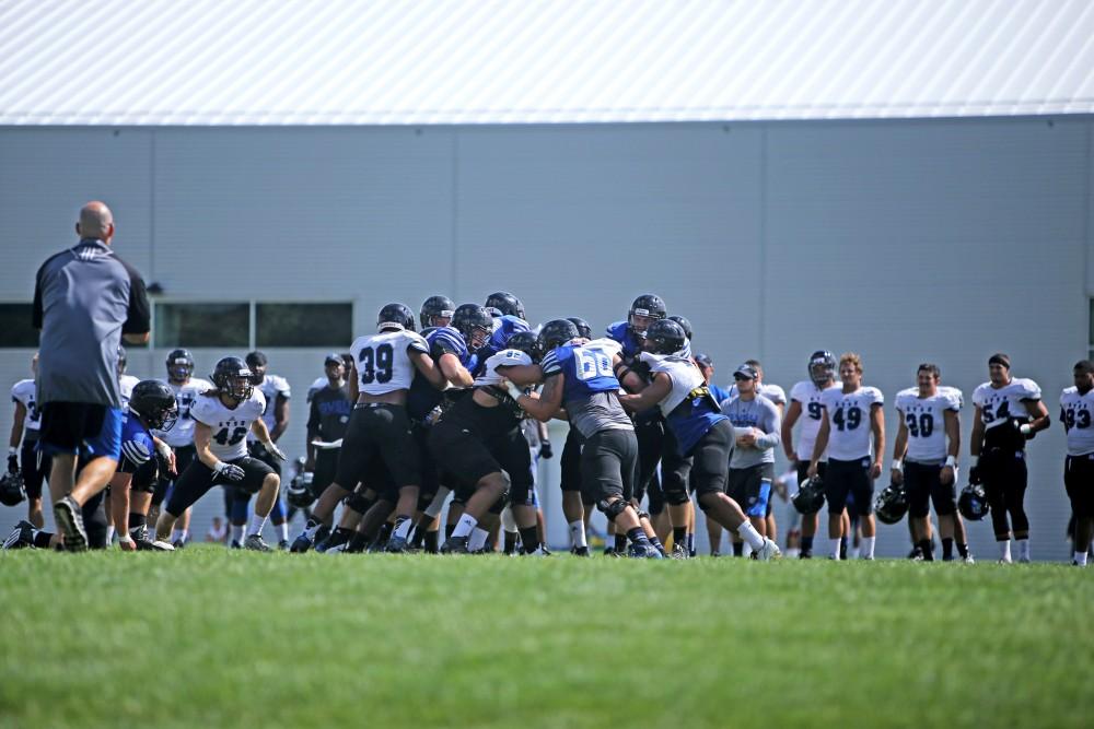
[[[861, 529], [860, 554], [872, 558], [876, 512], [888, 524], [908, 514], [917, 553], [932, 560], [933, 503], [943, 560], [954, 558], [956, 546], [959, 558], [971, 561], [961, 515], [980, 519], [988, 513], [1000, 560], [1011, 561], [1012, 537], [1017, 558], [1029, 560], [1024, 444], [1048, 427], [1049, 416], [1037, 385], [1011, 377], [1006, 355], [992, 355], [989, 381], [973, 393], [973, 462], [959, 497], [963, 397], [941, 385], [936, 366], [923, 364], [917, 387], [896, 396], [900, 426], [892, 484], [875, 499], [885, 456], [884, 396], [862, 384], [858, 355], [837, 362], [815, 352], [808, 379], [794, 385], [788, 403], [781, 388], [761, 381], [755, 361], [734, 372], [731, 390], [710, 385], [711, 363], [693, 356], [691, 333], [688, 321], [670, 317], [652, 294], [639, 296], [627, 319], [602, 338], [577, 317], [533, 328], [520, 299], [507, 292], [481, 306], [431, 296], [417, 322], [405, 305], [384, 306], [376, 332], [358, 338], [346, 360], [328, 355], [325, 377], [310, 392], [307, 457], [284, 489], [290, 506], [306, 514], [291, 545], [291, 513], [279, 497], [284, 455], [276, 445], [286, 424], [288, 384], [265, 372], [260, 352], [246, 361], [224, 357], [212, 383], [199, 380], [193, 378], [193, 357], [176, 350], [167, 357], [166, 383], [129, 384], [106, 521], [119, 526], [123, 549], [171, 550], [185, 544], [190, 506], [222, 485], [233, 540], [245, 549], [270, 549], [261, 532], [272, 517], [279, 545], [294, 552], [486, 552], [501, 527], [507, 551], [546, 555], [535, 452], [526, 435], [544, 435], [532, 423], [563, 419], [570, 427], [561, 455], [562, 509], [578, 555], [589, 554], [594, 508], [609, 522], [614, 554], [693, 555], [695, 503], [712, 536], [719, 528], [731, 532], [736, 553], [779, 556], [770, 506], [775, 449], [781, 445], [801, 483], [792, 502], [803, 515], [802, 557], [812, 556], [817, 515], [827, 504], [829, 557], [843, 554], [853, 520]], [[1075, 561], [1084, 564], [1094, 366], [1081, 362], [1074, 376], [1075, 387], [1061, 398], [1061, 420]], [[81, 549], [86, 544], [68, 533], [42, 531], [47, 468], [34, 452], [33, 389], [33, 380], [23, 380], [12, 392], [16, 426], [0, 501], [19, 503], [25, 492], [31, 512], [5, 546]], [[439, 517], [450, 496], [442, 543]], [[107, 529], [105, 539], [92, 539], [90, 528], [81, 537], [102, 545]]]

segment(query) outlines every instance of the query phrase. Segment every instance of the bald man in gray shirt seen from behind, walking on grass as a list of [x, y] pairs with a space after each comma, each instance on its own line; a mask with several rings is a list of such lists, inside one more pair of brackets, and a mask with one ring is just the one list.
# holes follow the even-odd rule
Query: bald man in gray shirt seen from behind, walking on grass
[[[54, 518], [73, 551], [88, 546], [81, 509], [114, 474], [121, 448], [118, 345], [149, 334], [144, 282], [114, 255], [114, 216], [102, 202], [80, 210], [80, 242], [42, 264], [34, 287], [38, 355], [38, 447], [51, 455]], [[77, 457], [83, 469], [75, 481]]]

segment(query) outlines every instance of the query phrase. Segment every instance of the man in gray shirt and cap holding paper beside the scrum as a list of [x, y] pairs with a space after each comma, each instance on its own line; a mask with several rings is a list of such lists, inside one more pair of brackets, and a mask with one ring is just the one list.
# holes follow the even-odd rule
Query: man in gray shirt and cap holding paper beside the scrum
[[[757, 393], [758, 373], [743, 364], [733, 373], [737, 395], [722, 403], [722, 414], [733, 423], [733, 454], [726, 492], [744, 510], [756, 531], [766, 534], [767, 503], [775, 478], [775, 447], [782, 419], [773, 402]], [[737, 543], [733, 551], [737, 554]]]

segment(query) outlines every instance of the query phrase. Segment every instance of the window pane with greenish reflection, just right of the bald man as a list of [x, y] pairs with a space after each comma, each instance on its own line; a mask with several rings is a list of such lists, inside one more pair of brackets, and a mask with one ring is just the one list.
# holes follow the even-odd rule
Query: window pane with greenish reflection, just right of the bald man
[[251, 305], [156, 304], [155, 345], [251, 346]]

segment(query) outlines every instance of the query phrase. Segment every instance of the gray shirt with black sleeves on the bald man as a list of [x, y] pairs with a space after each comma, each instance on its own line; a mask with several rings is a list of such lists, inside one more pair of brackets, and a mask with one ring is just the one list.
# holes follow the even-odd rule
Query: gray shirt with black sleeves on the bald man
[[90, 402], [121, 407], [121, 334], [149, 330], [140, 274], [102, 240], [84, 238], [50, 257], [34, 287], [38, 344], [38, 403]]

